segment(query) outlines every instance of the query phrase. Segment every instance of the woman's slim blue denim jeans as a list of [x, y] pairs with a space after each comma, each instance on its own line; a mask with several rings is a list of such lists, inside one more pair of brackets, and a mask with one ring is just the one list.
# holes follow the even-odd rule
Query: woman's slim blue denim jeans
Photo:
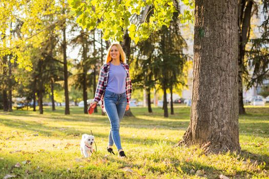
[[125, 114], [127, 99], [126, 93], [116, 94], [110, 91], [105, 92], [104, 96], [105, 108], [111, 124], [109, 133], [109, 145], [114, 143], [118, 150], [121, 148], [120, 136], [119, 136], [119, 122]]

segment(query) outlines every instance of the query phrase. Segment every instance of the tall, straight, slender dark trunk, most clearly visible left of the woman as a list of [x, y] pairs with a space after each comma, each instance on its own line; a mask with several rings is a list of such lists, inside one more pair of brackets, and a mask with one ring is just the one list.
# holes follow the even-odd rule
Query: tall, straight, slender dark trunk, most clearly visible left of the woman
[[64, 54], [64, 81], [65, 81], [65, 98], [66, 98], [66, 108], [65, 114], [70, 115], [69, 109], [69, 95], [68, 95], [68, 71], [67, 71], [67, 56], [66, 56], [66, 28], [63, 28], [63, 54]]

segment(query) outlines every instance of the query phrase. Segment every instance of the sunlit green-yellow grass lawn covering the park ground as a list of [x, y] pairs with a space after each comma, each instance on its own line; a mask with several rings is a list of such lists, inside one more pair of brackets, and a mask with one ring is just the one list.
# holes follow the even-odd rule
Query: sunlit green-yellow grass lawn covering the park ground
[[[47, 107], [44, 115], [1, 111], [0, 178], [269, 178], [269, 106], [247, 106], [247, 115], [240, 116], [239, 155], [204, 155], [196, 146], [172, 148], [189, 125], [189, 107], [175, 106], [169, 118], [160, 108], [148, 114], [147, 108], [133, 107], [135, 117], [123, 119], [120, 127], [127, 159], [108, 155], [110, 124], [100, 108], [91, 116], [82, 114], [82, 108], [70, 110], [67, 116], [63, 107], [53, 112]], [[80, 138], [91, 130], [97, 153], [85, 159]]]

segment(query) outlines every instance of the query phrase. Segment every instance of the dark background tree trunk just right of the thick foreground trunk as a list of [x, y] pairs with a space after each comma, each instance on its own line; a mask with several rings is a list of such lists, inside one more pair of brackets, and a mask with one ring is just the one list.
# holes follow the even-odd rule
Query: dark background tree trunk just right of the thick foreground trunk
[[[246, 4], [247, 2], [247, 4]], [[251, 11], [253, 2], [240, 0], [238, 3], [238, 110], [239, 115], [245, 114], [243, 103], [243, 81], [245, 45], [249, 40], [251, 26]]]

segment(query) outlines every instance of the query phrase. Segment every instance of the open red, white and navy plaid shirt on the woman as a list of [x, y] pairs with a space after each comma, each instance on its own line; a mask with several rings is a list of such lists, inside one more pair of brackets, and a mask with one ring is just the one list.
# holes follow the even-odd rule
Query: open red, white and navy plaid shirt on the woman
[[[132, 95], [132, 82], [129, 74], [129, 65], [127, 63], [121, 63], [125, 68], [127, 77], [126, 77], [126, 96], [127, 96], [127, 104], [130, 104], [131, 95]], [[100, 68], [100, 75], [98, 79], [98, 84], [95, 92], [94, 101], [97, 103], [101, 100], [101, 108], [104, 113], [106, 113], [106, 109], [104, 107], [104, 94], [106, 91], [106, 87], [108, 84], [108, 75], [109, 75], [110, 63], [106, 63]]]

